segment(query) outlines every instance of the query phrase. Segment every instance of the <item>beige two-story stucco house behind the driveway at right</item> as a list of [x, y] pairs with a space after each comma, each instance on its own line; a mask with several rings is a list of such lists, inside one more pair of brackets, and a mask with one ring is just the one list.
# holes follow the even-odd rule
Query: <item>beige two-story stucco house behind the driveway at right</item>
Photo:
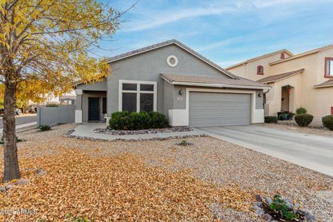
[[227, 70], [272, 87], [264, 94], [265, 115], [300, 107], [315, 119], [333, 114], [333, 44], [297, 55], [283, 49]]

